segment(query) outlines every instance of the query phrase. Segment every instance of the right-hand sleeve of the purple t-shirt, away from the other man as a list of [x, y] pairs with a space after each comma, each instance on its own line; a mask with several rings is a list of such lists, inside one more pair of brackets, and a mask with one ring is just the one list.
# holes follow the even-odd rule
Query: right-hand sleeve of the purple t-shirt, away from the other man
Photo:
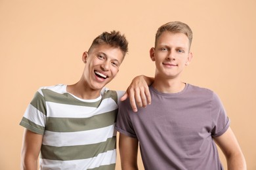
[[211, 105], [211, 118], [212, 118], [212, 131], [213, 137], [219, 137], [230, 126], [230, 119], [226, 115], [223, 103], [216, 93], [213, 93], [212, 105]]

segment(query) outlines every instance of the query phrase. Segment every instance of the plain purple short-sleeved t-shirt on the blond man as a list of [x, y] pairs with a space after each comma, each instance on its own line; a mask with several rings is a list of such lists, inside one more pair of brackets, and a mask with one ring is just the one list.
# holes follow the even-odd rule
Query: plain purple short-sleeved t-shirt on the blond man
[[119, 105], [116, 129], [139, 139], [145, 169], [223, 169], [213, 137], [229, 127], [219, 97], [186, 84], [179, 93], [150, 87], [152, 104], [133, 112], [129, 99]]

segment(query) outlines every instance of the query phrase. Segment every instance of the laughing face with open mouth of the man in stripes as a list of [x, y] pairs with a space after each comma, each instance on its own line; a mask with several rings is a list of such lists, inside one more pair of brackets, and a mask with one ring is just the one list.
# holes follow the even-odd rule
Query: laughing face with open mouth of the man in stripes
[[85, 86], [100, 91], [117, 75], [123, 58], [119, 48], [108, 44], [97, 45], [89, 53], [85, 52], [82, 76]]

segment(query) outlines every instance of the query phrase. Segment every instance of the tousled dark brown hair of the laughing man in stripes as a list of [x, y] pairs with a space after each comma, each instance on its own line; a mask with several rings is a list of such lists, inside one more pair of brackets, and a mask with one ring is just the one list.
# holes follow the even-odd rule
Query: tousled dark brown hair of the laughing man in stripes
[[120, 48], [123, 56], [125, 56], [125, 54], [128, 52], [128, 41], [125, 38], [125, 35], [121, 35], [119, 31], [111, 31], [110, 33], [103, 32], [102, 34], [98, 35], [98, 37], [93, 40], [88, 52], [90, 52], [94, 46], [100, 44], [108, 44], [110, 46]]

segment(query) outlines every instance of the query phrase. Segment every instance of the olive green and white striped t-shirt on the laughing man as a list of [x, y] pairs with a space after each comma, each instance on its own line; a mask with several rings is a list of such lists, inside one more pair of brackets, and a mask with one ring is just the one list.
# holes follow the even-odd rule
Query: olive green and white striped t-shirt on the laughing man
[[43, 135], [41, 169], [115, 169], [117, 105], [123, 92], [83, 100], [66, 85], [40, 88], [21, 126]]

